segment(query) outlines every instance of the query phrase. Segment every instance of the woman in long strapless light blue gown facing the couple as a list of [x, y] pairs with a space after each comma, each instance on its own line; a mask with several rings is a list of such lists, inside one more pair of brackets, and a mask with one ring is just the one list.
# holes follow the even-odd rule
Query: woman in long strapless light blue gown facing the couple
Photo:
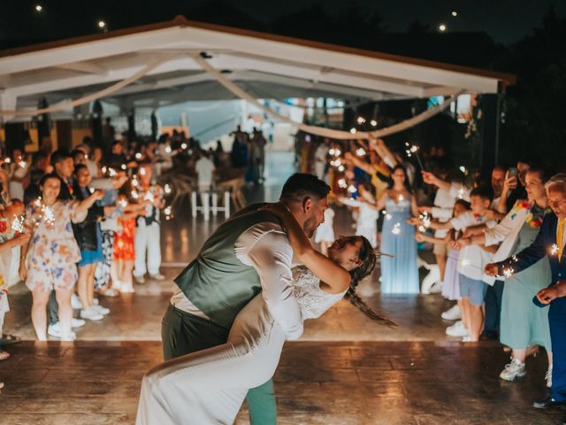
[[407, 222], [418, 216], [417, 201], [404, 167], [395, 166], [391, 180], [375, 205], [377, 210], [385, 208], [380, 251], [394, 255], [381, 256], [381, 293], [418, 294], [415, 228]]

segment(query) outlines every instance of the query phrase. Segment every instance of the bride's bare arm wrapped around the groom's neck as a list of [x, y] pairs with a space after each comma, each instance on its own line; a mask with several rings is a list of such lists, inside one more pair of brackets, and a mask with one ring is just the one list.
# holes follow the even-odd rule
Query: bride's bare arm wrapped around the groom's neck
[[[325, 257], [312, 247], [301, 225], [294, 218], [294, 215], [287, 210], [285, 205], [268, 204], [265, 205], [263, 209], [275, 214], [279, 220], [283, 222], [283, 226], [287, 229], [287, 237], [293, 248], [294, 255], [302, 264], [308, 267], [321, 282], [325, 283], [325, 292], [339, 294], [348, 289], [351, 282], [348, 270], [340, 267], [338, 264], [334, 263], [333, 260]], [[321, 285], [321, 287], [323, 286]]]

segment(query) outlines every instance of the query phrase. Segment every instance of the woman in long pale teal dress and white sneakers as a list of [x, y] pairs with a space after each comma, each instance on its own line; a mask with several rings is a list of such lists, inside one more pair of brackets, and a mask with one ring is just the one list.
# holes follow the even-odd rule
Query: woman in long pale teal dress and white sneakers
[[[482, 244], [501, 246], [493, 256], [493, 261], [507, 259], [531, 245], [539, 234], [540, 225], [549, 213], [547, 208], [547, 182], [545, 171], [537, 166], [525, 175], [527, 199], [519, 200], [509, 213], [494, 228], [486, 228], [476, 236], [460, 239], [460, 246]], [[509, 273], [503, 285], [501, 303], [501, 344], [512, 349], [511, 362], [501, 371], [500, 378], [514, 381], [525, 375], [524, 361], [529, 347], [541, 345], [548, 355], [547, 387], [552, 383], [552, 349], [548, 328], [548, 311], [532, 304], [532, 296], [537, 290], [546, 287], [551, 280], [550, 266], [546, 257], [520, 273]]]

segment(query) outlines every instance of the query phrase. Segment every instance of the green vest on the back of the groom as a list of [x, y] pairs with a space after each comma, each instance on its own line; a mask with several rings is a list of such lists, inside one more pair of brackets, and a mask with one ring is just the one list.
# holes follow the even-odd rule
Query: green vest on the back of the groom
[[175, 279], [191, 303], [225, 328], [232, 327], [236, 314], [261, 291], [256, 269], [234, 253], [236, 240], [247, 229], [265, 221], [279, 223], [272, 213], [255, 211], [258, 206], [249, 205], [222, 223]]

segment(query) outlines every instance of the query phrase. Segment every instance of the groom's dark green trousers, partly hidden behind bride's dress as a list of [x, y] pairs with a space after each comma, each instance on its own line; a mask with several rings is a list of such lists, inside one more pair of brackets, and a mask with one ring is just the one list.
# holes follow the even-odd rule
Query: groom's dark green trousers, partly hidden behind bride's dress
[[[228, 333], [229, 329], [169, 305], [161, 324], [163, 357], [165, 360], [173, 359], [189, 352], [226, 344]], [[252, 425], [277, 423], [277, 405], [271, 379], [249, 390], [247, 398]]]

